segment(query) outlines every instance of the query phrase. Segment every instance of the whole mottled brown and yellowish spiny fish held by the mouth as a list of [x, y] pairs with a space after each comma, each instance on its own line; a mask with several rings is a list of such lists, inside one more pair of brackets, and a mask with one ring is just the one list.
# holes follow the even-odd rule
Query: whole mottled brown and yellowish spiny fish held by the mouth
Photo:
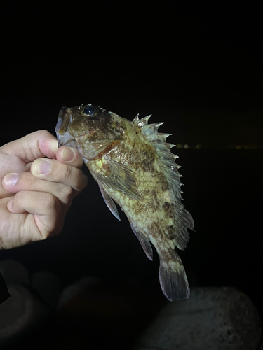
[[120, 219], [116, 204], [147, 255], [159, 255], [159, 281], [168, 300], [187, 299], [187, 275], [175, 247], [184, 251], [194, 221], [182, 204], [180, 165], [151, 115], [130, 121], [94, 104], [62, 107], [55, 132], [58, 146], [77, 148], [97, 181], [104, 202]]

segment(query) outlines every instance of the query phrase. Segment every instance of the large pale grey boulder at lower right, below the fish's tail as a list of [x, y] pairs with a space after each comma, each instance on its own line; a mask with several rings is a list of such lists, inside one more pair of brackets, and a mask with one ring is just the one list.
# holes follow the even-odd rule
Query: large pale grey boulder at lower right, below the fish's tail
[[192, 288], [188, 300], [167, 303], [133, 350], [255, 350], [257, 310], [232, 287]]

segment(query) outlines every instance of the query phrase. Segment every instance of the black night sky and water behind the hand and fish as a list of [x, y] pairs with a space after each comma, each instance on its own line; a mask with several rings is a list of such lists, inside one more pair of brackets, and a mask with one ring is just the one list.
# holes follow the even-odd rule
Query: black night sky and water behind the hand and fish
[[[153, 113], [151, 123], [164, 121], [160, 131], [173, 134], [168, 141], [189, 145], [173, 152], [195, 221], [182, 253], [191, 285], [236, 286], [260, 309], [259, 10], [74, 3], [29, 15], [24, 3], [12, 6], [2, 13], [1, 144], [39, 129], [54, 134], [62, 106], [98, 104], [128, 119]], [[119, 223], [89, 179], [60, 235], [1, 259], [49, 269], [64, 286], [91, 275], [159, 290], [158, 258], [147, 260], [124, 214]]]

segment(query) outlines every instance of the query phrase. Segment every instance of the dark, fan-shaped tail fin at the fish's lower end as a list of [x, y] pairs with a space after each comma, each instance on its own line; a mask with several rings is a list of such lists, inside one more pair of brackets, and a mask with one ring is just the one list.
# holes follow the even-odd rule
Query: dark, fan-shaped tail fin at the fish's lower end
[[160, 258], [159, 279], [163, 294], [170, 302], [187, 299], [190, 288], [182, 261], [175, 252], [173, 260], [164, 261]]

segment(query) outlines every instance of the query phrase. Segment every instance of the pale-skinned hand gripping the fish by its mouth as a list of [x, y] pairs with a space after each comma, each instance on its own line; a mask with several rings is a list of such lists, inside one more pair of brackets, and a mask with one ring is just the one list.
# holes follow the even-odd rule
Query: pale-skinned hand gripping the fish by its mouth
[[58, 235], [88, 183], [82, 165], [75, 148], [58, 148], [46, 130], [0, 147], [0, 249]]

